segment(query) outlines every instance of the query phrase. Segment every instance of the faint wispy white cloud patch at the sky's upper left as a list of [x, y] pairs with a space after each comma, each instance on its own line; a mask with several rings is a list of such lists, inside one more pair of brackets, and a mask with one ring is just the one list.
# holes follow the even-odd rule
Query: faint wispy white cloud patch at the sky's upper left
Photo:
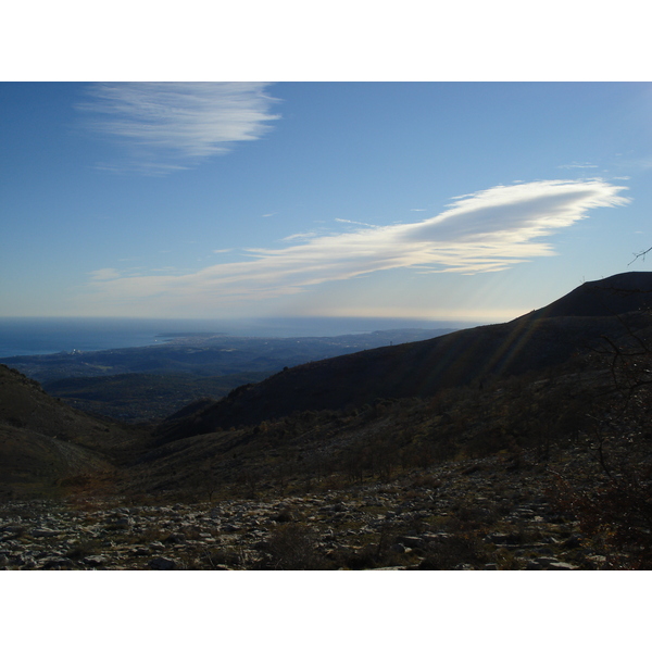
[[125, 156], [104, 170], [167, 174], [235, 143], [255, 140], [278, 115], [259, 83], [93, 84], [77, 105], [87, 126], [120, 145]]

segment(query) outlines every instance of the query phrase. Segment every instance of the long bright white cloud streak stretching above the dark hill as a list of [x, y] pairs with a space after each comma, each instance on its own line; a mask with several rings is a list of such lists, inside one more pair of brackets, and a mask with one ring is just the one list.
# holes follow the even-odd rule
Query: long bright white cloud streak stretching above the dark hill
[[626, 188], [601, 179], [497, 186], [455, 198], [446, 211], [422, 222], [319, 235], [281, 249], [249, 249], [253, 260], [192, 274], [115, 278], [99, 271], [89, 289], [106, 305], [179, 310], [292, 294], [383, 269], [497, 272], [553, 255], [547, 237], [582, 220], [591, 209], [626, 204], [629, 200], [618, 196], [622, 190]]

